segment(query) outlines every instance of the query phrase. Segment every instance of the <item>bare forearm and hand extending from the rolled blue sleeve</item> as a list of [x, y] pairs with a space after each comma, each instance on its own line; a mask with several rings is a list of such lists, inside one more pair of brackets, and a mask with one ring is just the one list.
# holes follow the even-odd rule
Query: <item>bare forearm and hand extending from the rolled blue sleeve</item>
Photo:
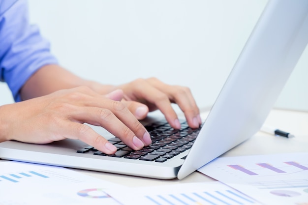
[[171, 103], [177, 103], [184, 112], [188, 125], [192, 128], [200, 126], [199, 109], [189, 88], [171, 86], [156, 78], [137, 79], [118, 87], [102, 85], [97, 82], [84, 80], [59, 65], [46, 65], [34, 73], [21, 89], [23, 100], [46, 95], [59, 89], [87, 86], [100, 94], [112, 90], [124, 91], [123, 104], [138, 119], [143, 119], [148, 112], [159, 109], [174, 128], [180, 128], [178, 117]]

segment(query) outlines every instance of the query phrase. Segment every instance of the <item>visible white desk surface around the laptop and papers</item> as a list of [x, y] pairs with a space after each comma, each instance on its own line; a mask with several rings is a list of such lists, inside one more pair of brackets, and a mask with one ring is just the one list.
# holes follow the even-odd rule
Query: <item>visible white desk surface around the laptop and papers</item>
[[[207, 113], [204, 114], [204, 116], [206, 115]], [[270, 115], [267, 117], [265, 124], [290, 132], [295, 135], [295, 138], [276, 137], [274, 135], [258, 132], [246, 142], [229, 150], [223, 156], [308, 152], [308, 112], [272, 110]], [[5, 160], [0, 160], [0, 162], [3, 161]], [[215, 180], [197, 171], [182, 180], [161, 180], [78, 169], [71, 170], [130, 187]]]

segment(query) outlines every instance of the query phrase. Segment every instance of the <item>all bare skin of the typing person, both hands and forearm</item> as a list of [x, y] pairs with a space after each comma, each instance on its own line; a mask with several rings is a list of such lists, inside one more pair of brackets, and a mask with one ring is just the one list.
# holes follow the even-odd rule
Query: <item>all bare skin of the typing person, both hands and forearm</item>
[[116, 147], [88, 124], [102, 126], [135, 150], [151, 144], [138, 121], [159, 109], [174, 128], [179, 119], [171, 103], [177, 103], [188, 125], [201, 124], [199, 109], [188, 88], [171, 86], [156, 78], [137, 79], [121, 86], [84, 80], [59, 65], [46, 65], [21, 88], [22, 102], [0, 106], [0, 142], [17, 140], [46, 144], [79, 139], [113, 154]]

